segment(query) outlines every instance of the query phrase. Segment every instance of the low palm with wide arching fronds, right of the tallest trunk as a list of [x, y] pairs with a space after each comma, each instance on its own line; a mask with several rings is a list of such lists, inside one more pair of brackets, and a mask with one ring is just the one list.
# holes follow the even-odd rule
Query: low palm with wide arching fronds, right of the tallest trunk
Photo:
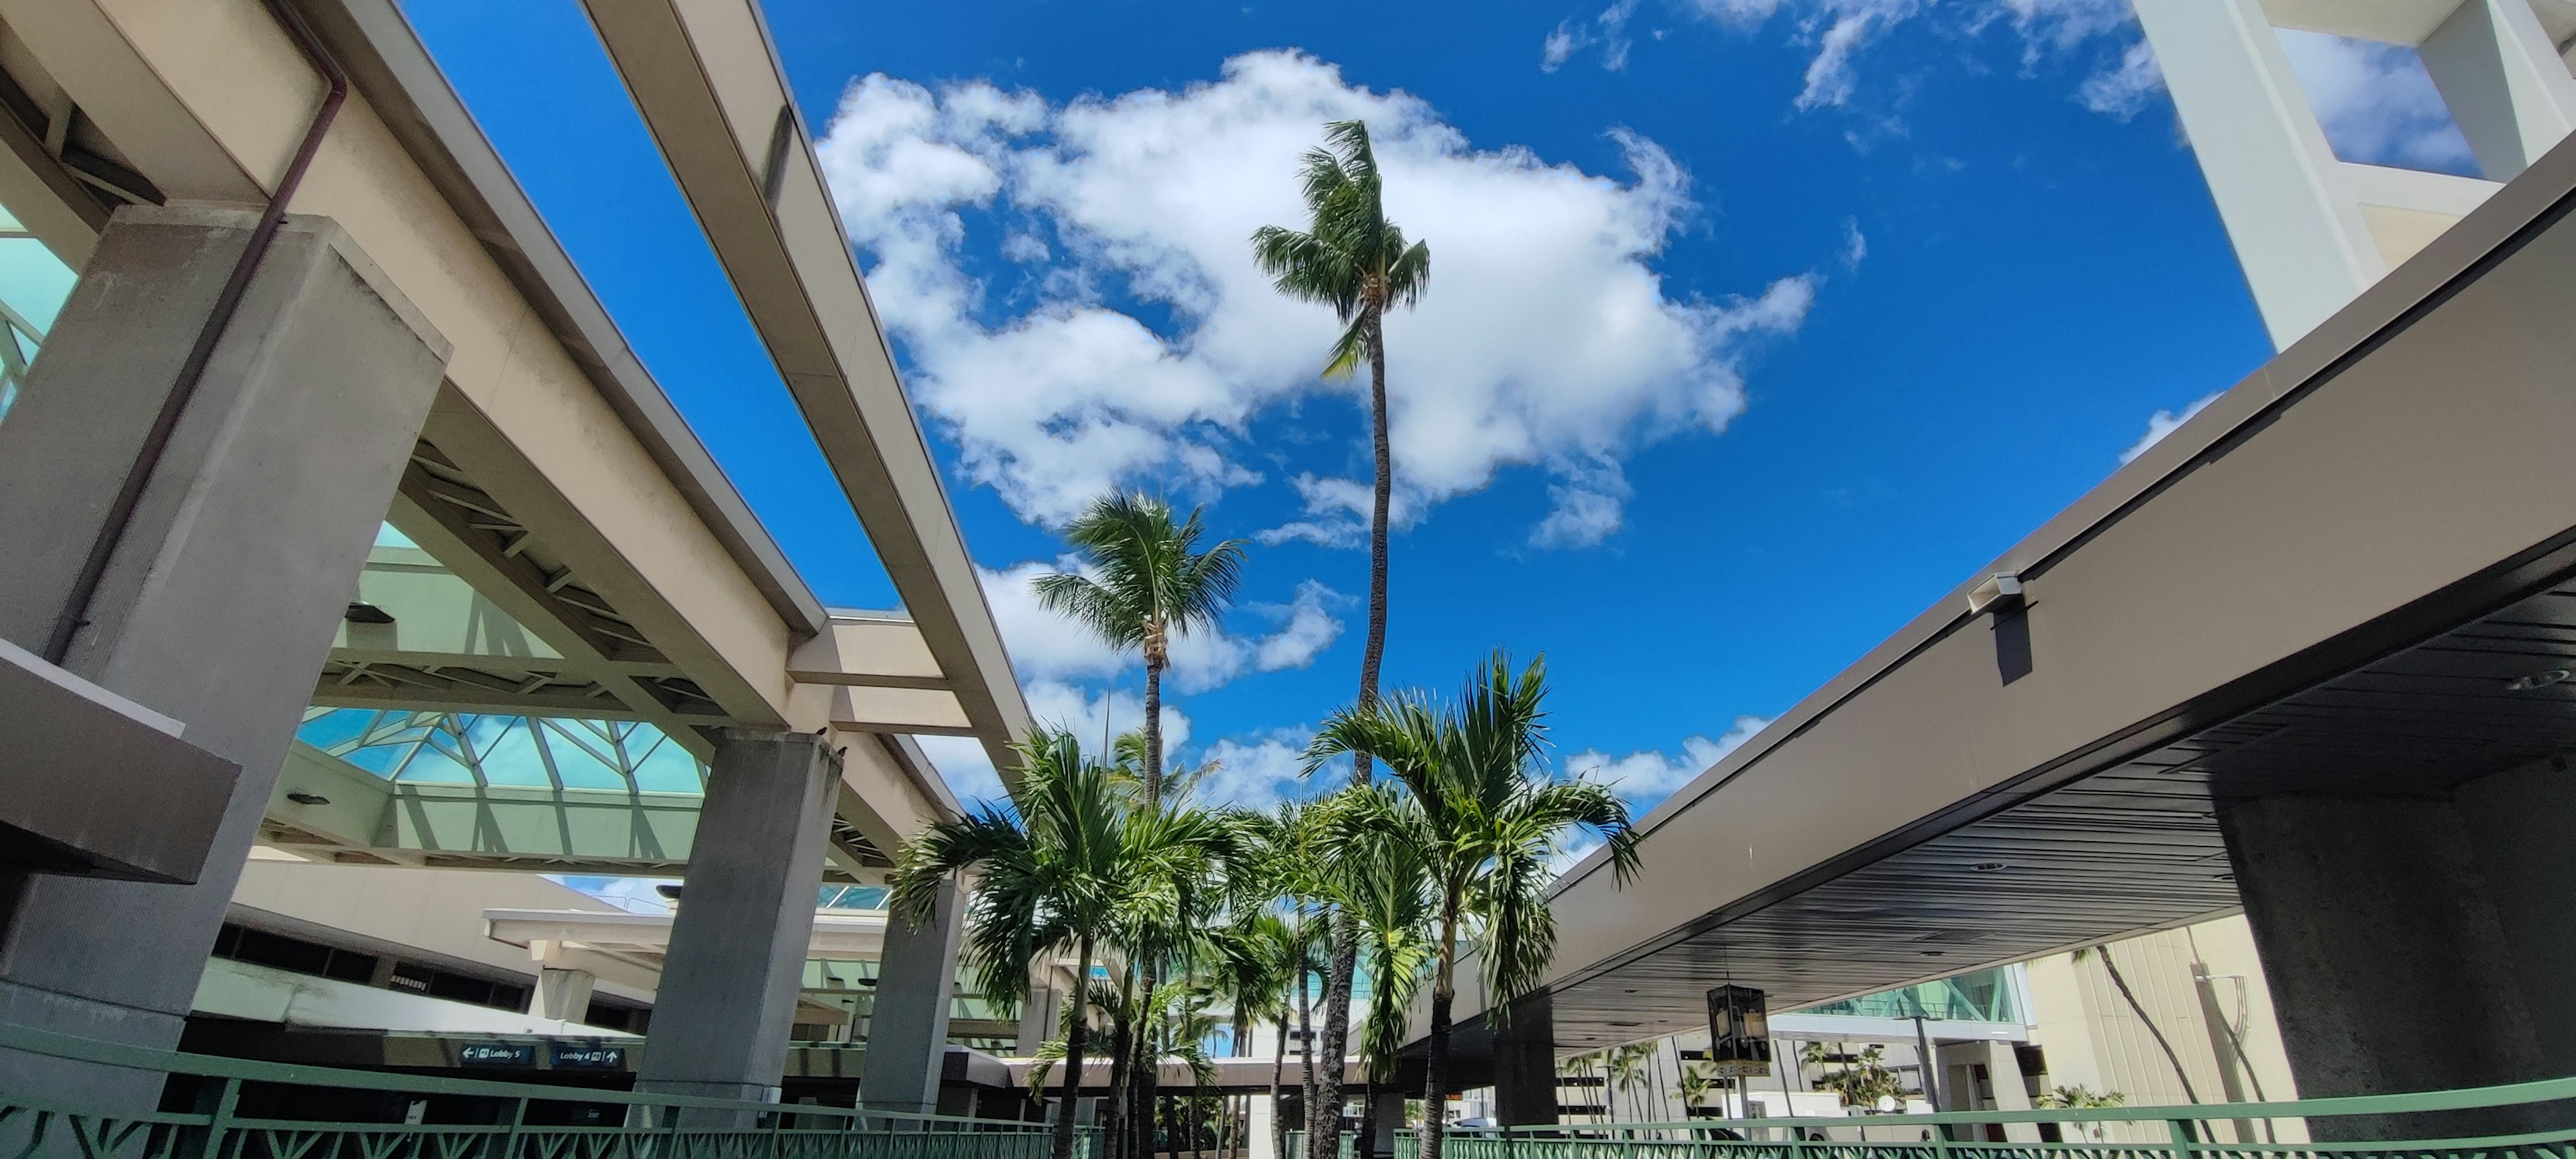
[[1332, 713], [1306, 747], [1309, 768], [1342, 752], [1386, 762], [1404, 791], [1345, 788], [1327, 804], [1327, 829], [1409, 845], [1430, 868], [1437, 917], [1422, 1159], [1440, 1159], [1461, 938], [1473, 938], [1484, 968], [1486, 1017], [1502, 1020], [1556, 958], [1548, 881], [1564, 837], [1597, 832], [1618, 883], [1636, 876], [1636, 832], [1618, 793], [1546, 768], [1546, 659], [1515, 675], [1510, 657], [1494, 652], [1455, 703], [1404, 693], [1352, 706]]

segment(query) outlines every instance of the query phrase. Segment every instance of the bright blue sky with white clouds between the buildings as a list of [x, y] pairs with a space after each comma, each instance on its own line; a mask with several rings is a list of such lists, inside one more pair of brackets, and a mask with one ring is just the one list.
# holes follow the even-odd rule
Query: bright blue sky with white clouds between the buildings
[[[891, 605], [580, 8], [410, 13], [814, 590]], [[1242, 245], [1296, 224], [1327, 116], [1373, 124], [1432, 250], [1388, 322], [1386, 680], [1546, 652], [1558, 755], [1638, 804], [2269, 355], [2125, 0], [768, 18], [1038, 713], [1133, 721], [1131, 664], [1023, 590], [1084, 495], [1154, 489], [1255, 541], [1175, 675], [1182, 755], [1244, 801], [1298, 791], [1291, 755], [1358, 680], [1358, 394], [1316, 381], [1329, 317]], [[2465, 165], [2403, 49], [2293, 54], [2352, 160]]]

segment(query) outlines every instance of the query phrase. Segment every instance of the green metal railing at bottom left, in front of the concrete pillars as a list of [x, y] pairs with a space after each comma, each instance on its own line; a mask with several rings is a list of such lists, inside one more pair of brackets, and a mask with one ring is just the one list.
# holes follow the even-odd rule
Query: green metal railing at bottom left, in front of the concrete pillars
[[[0, 1048], [142, 1071], [165, 1102], [191, 1105], [103, 1110], [0, 1089], [0, 1159], [1046, 1159], [1054, 1141], [1048, 1123], [350, 1071], [5, 1022]], [[1074, 1156], [1095, 1146], [1084, 1128]]]

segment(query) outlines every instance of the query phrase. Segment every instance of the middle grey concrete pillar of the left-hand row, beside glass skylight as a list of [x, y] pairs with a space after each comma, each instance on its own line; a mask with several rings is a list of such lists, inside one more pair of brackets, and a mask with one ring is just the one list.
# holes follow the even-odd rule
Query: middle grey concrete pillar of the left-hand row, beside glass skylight
[[[636, 1089], [778, 1097], [837, 783], [840, 757], [822, 737], [757, 729], [716, 737]], [[724, 1126], [724, 1118], [683, 1115], [683, 1123]]]

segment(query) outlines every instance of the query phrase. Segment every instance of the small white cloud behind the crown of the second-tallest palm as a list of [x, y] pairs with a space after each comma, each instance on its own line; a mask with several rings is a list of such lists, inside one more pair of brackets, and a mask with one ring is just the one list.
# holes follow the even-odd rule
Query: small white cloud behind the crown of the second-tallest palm
[[[1038, 605], [1038, 577], [1072, 572], [1072, 556], [1043, 561], [1030, 559], [999, 572], [976, 569], [984, 585], [984, 603], [1002, 628], [1010, 662], [1023, 680], [1110, 680], [1139, 672], [1136, 652], [1118, 652], [1090, 628]], [[1288, 603], [1247, 603], [1242, 613], [1278, 623], [1267, 636], [1236, 636], [1224, 628], [1193, 631], [1172, 639], [1172, 667], [1167, 672], [1175, 693], [1206, 693], [1244, 672], [1278, 672], [1306, 667], [1342, 636], [1342, 621], [1332, 605], [1342, 595], [1321, 582], [1306, 580]]]

